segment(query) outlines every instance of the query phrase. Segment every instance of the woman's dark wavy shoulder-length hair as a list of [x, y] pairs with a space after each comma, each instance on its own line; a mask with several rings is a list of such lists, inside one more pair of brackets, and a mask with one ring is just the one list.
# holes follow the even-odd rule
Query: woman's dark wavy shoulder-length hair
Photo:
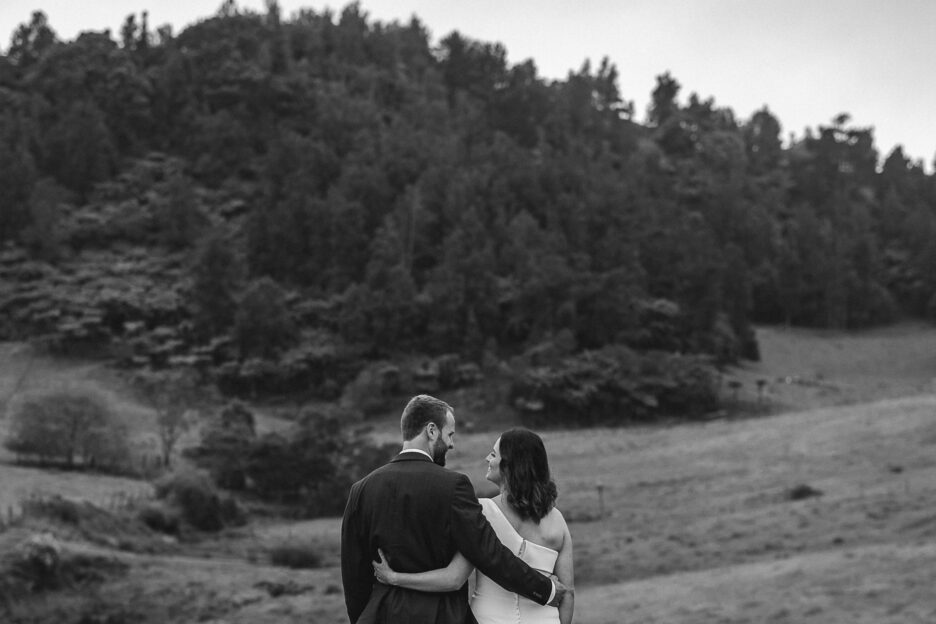
[[558, 495], [549, 474], [543, 439], [528, 429], [510, 429], [501, 435], [500, 453], [507, 502], [521, 518], [539, 523], [553, 508]]

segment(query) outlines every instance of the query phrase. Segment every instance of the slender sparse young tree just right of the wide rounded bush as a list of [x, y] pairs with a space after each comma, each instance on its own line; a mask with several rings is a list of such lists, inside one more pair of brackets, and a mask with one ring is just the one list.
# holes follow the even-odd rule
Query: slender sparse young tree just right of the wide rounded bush
[[156, 410], [162, 465], [172, 467], [176, 444], [191, 429], [202, 392], [189, 371], [147, 371], [134, 378], [142, 398]]

